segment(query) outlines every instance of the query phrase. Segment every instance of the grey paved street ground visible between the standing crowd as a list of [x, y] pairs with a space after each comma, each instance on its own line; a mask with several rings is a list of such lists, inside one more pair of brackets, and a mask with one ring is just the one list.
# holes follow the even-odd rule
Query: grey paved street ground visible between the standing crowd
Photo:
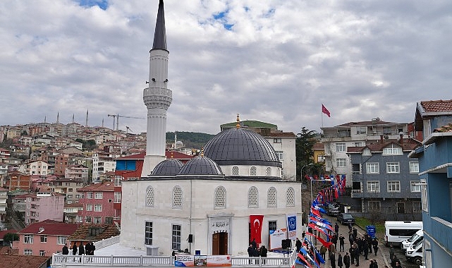
[[[336, 223], [336, 218], [333, 217], [324, 217], [325, 219], [328, 219], [333, 225]], [[346, 238], [346, 245], [344, 247], [344, 250], [348, 251], [350, 248], [350, 243], [348, 242], [348, 226], [339, 224], [339, 234], [342, 234]], [[363, 229], [360, 229], [359, 226], [355, 226], [356, 229], [358, 229], [358, 236], [364, 236], [366, 231]], [[322, 244], [317, 243], [317, 248], [320, 248]], [[337, 244], [339, 249], [339, 243]], [[346, 252], [336, 252], [336, 267], [337, 266], [337, 257], [338, 253], [341, 253], [341, 255], [345, 255]], [[350, 253], [349, 253], [350, 254]], [[408, 262], [405, 260], [405, 252], [401, 250], [400, 248], [395, 248], [395, 254], [398, 257], [399, 260], [401, 260], [401, 264], [404, 268], [419, 268], [418, 265], [415, 265], [413, 263]], [[391, 267], [391, 260], [389, 259], [389, 248], [384, 245], [383, 240], [379, 240], [379, 250], [377, 252], [377, 255], [372, 250], [372, 254], [369, 253], [368, 256], [369, 260], [365, 260], [365, 257], [360, 255], [360, 266], [359, 267], [369, 267], [370, 260], [377, 260], [378, 267], [383, 268], [384, 265], [388, 265], [388, 267]], [[328, 257], [326, 257], [328, 259]], [[329, 268], [331, 267], [330, 261], [326, 260], [325, 264], [322, 264], [322, 268]], [[344, 266], [345, 267], [345, 266]], [[355, 264], [351, 264], [350, 267], [356, 267]]]

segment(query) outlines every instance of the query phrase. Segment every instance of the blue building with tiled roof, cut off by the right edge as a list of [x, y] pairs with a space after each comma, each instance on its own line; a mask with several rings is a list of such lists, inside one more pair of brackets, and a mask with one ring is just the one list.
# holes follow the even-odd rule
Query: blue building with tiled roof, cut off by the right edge
[[422, 130], [417, 158], [422, 187], [424, 264], [452, 265], [452, 99], [417, 103], [415, 130]]

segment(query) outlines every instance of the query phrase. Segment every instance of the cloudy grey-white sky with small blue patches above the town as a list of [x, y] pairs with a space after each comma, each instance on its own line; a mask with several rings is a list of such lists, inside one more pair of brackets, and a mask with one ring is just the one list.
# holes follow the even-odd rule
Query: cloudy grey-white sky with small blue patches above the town
[[[0, 1], [0, 125], [145, 117], [158, 0]], [[408, 123], [452, 99], [452, 1], [166, 0], [167, 130]], [[322, 116], [322, 104], [331, 118]], [[146, 130], [120, 118], [119, 128]]]

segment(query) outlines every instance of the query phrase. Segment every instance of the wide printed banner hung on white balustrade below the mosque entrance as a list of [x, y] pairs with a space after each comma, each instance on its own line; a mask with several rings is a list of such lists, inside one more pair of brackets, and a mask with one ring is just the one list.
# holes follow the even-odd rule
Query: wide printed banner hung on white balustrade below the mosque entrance
[[231, 267], [231, 255], [176, 255], [176, 267]]

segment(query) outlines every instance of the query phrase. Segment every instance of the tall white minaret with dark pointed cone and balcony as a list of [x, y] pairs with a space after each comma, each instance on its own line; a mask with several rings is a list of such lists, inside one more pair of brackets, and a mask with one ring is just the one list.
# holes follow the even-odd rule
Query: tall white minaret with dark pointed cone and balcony
[[166, 48], [163, 0], [159, 1], [154, 44], [149, 54], [149, 87], [143, 91], [143, 101], [147, 107], [147, 134], [142, 177], [151, 174], [154, 167], [166, 158], [166, 111], [173, 100], [173, 94], [167, 88], [169, 51]]

